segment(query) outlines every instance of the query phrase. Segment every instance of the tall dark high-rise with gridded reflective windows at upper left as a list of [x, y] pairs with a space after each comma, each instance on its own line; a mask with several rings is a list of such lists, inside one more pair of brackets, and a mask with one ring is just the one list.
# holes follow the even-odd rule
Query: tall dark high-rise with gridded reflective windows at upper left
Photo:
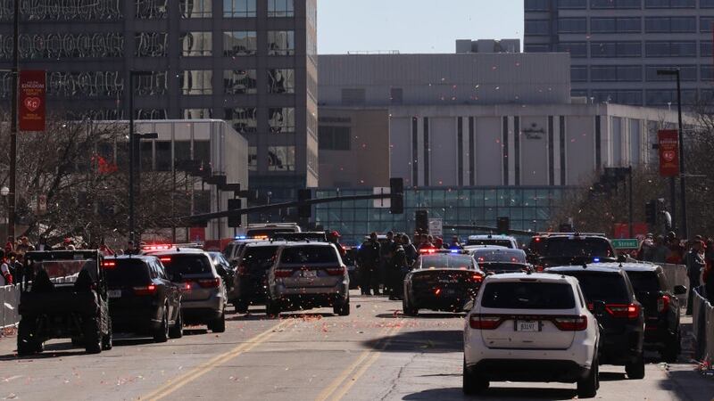
[[[12, 67], [0, 0], [0, 69]], [[316, 0], [21, 1], [20, 63], [46, 70], [48, 110], [77, 118], [226, 119], [249, 141], [250, 184], [317, 185]], [[0, 74], [0, 96], [11, 77]], [[277, 189], [276, 189], [277, 188]]]

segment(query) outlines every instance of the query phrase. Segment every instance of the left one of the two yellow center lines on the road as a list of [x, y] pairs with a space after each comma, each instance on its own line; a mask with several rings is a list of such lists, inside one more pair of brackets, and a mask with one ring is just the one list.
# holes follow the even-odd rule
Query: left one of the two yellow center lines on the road
[[209, 361], [196, 366], [194, 369], [180, 375], [179, 377], [167, 381], [159, 389], [155, 389], [146, 396], [139, 397], [139, 399], [158, 400], [164, 397], [168, 397], [177, 390], [186, 386], [191, 381], [195, 381], [204, 374], [211, 372], [214, 368], [220, 366], [221, 364], [225, 364], [236, 356], [244, 354], [245, 352], [248, 352], [251, 349], [258, 347], [267, 340], [270, 340], [270, 338], [273, 337], [278, 331], [280, 331], [281, 329], [285, 329], [288, 325], [294, 322], [294, 319], [289, 319], [278, 323], [267, 331], [263, 331], [261, 334], [258, 334], [257, 336], [253, 337], [252, 339], [246, 340], [243, 344], [237, 346], [236, 348], [233, 348], [230, 351], [220, 354], [218, 356], [214, 356]]

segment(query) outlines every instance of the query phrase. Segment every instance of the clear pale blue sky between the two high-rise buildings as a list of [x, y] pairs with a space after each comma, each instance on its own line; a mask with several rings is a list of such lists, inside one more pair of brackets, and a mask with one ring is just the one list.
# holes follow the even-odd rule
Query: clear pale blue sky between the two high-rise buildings
[[318, 0], [318, 53], [453, 53], [456, 39], [523, 39], [523, 0]]

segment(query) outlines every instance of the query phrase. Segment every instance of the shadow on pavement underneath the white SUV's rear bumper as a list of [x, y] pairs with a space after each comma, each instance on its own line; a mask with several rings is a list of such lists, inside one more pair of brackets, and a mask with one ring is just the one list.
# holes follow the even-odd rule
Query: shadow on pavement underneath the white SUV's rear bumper
[[[499, 383], [495, 383], [495, 387], [488, 389], [485, 393], [478, 395], [479, 400], [502, 400], [502, 399], [548, 399], [548, 400], [567, 400], [573, 399], [576, 396], [575, 389], [504, 389], [498, 387]], [[403, 397], [404, 400], [470, 400], [474, 397], [467, 397], [461, 391], [461, 388], [452, 389], [428, 389], [419, 393], [410, 394]]]

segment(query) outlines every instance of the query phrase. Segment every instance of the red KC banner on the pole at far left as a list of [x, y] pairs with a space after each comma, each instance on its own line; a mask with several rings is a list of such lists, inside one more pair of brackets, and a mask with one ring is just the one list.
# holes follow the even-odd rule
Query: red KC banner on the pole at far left
[[18, 119], [21, 131], [45, 131], [45, 100], [45, 71], [20, 71]]

